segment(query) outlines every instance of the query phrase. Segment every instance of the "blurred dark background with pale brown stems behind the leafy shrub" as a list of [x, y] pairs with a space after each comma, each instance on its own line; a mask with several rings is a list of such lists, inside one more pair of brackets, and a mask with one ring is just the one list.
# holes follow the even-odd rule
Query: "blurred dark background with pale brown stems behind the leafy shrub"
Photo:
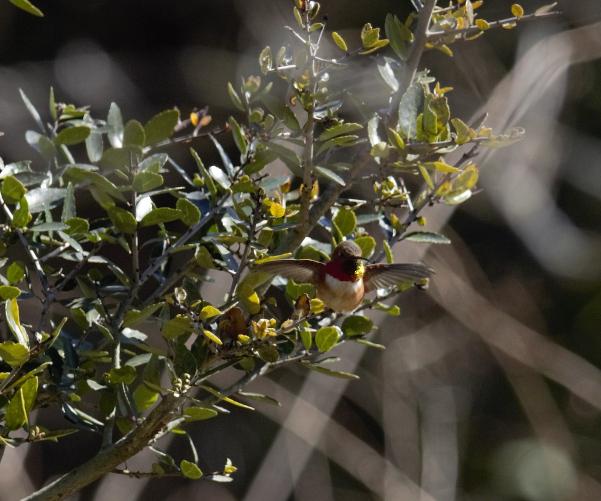
[[[238, 113], [227, 82], [239, 87], [258, 74], [258, 53], [287, 41], [283, 26], [294, 24], [292, 0], [34, 3], [44, 18], [0, 3], [5, 163], [38, 161], [25, 142], [34, 123], [19, 88], [44, 121], [52, 85], [57, 101], [90, 105], [95, 117], [113, 101], [124, 120], [142, 123], [172, 106], [186, 116], [209, 105], [219, 125]], [[490, 0], [478, 13], [504, 19], [511, 3]], [[422, 259], [436, 276], [428, 293], [398, 297], [401, 317], [370, 313], [379, 324], [370, 339], [385, 351], [338, 350], [340, 368], [361, 380], [285, 369], [251, 388], [281, 407], [234, 408], [189, 428], [201, 469], [220, 470], [227, 457], [239, 468], [230, 484], [110, 475], [72, 499], [601, 499], [600, 7], [559, 1], [562, 16], [453, 44], [453, 58], [424, 57], [454, 88], [453, 116], [470, 123], [487, 111], [496, 132], [520, 126], [526, 138], [475, 160], [478, 195], [424, 212], [426, 229], [451, 245], [397, 246], [397, 260]], [[410, 8], [409, 0], [322, 2], [327, 31], [350, 47], [365, 22], [383, 26], [386, 13], [404, 19]], [[371, 64], [362, 59], [345, 83], [383, 108], [388, 94]], [[219, 162], [202, 139], [194, 147], [207, 165]], [[168, 153], [192, 171], [187, 147]], [[99, 446], [82, 431], [8, 450], [0, 501], [26, 496]], [[185, 439], [160, 446], [190, 459]], [[127, 467], [148, 470], [151, 461], [141, 455]]]

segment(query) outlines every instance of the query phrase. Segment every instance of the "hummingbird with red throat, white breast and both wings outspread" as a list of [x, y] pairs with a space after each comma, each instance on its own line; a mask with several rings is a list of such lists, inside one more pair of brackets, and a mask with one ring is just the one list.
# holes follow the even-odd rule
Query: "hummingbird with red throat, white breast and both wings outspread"
[[350, 313], [365, 294], [404, 282], [428, 278], [434, 270], [419, 263], [364, 264], [361, 247], [352, 240], [337, 245], [328, 263], [310, 259], [279, 260], [255, 267], [255, 272], [291, 278], [299, 284], [316, 286], [316, 296], [328, 308]]

